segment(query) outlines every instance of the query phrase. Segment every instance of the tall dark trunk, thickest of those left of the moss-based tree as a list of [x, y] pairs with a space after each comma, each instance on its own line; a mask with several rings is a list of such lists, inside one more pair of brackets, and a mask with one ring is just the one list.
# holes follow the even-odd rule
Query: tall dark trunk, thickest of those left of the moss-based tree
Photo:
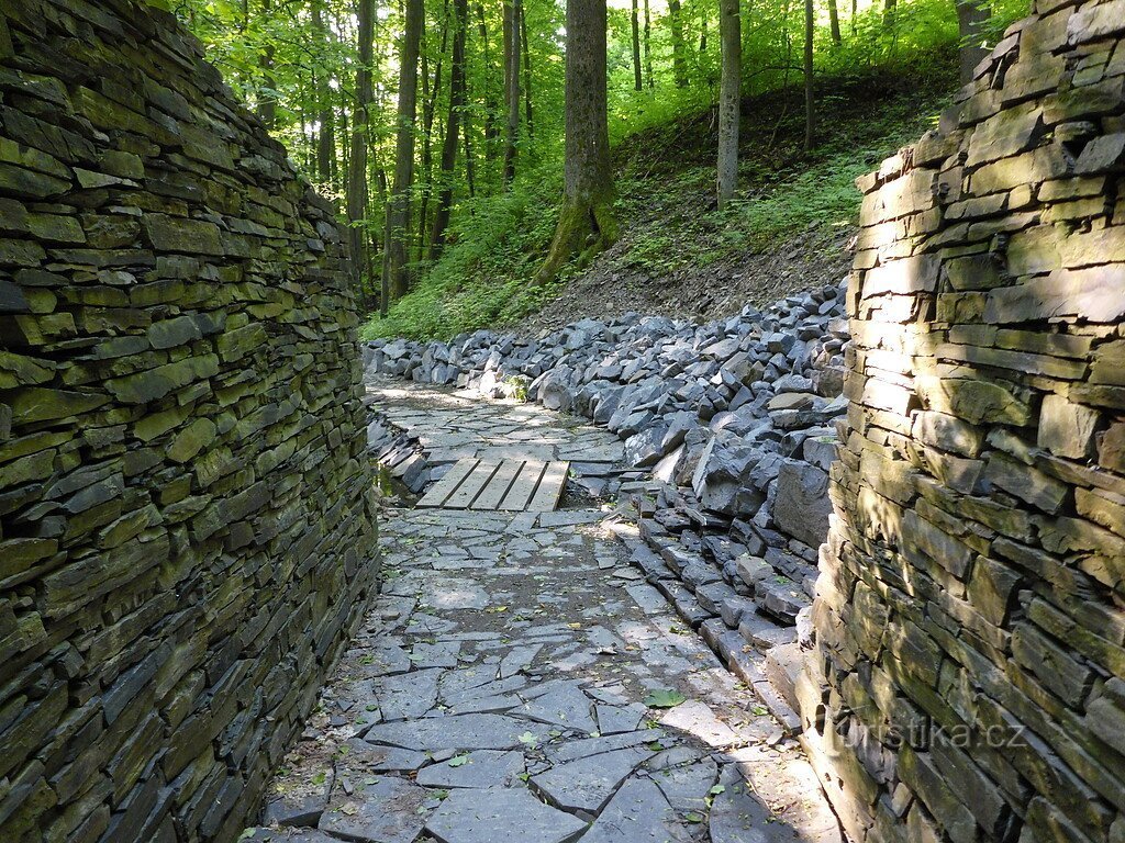
[[422, 42], [422, 0], [405, 0], [406, 21], [398, 62], [398, 135], [395, 140], [395, 176], [387, 201], [387, 241], [384, 275], [390, 299], [408, 289], [406, 241], [410, 236], [411, 187], [414, 181], [414, 121], [417, 118], [418, 51]]

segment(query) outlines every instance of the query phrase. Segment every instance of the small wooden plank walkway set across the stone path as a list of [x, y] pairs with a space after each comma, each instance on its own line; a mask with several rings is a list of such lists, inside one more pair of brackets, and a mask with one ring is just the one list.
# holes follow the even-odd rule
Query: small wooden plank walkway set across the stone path
[[566, 487], [568, 462], [458, 460], [418, 508], [550, 513]]

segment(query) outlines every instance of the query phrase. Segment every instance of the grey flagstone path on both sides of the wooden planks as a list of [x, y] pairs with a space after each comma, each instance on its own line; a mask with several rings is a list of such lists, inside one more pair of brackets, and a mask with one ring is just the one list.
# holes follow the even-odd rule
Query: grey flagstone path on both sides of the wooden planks
[[[377, 391], [431, 461], [621, 456], [612, 435], [536, 406]], [[250, 839], [838, 841], [796, 745], [605, 516], [574, 496], [542, 515], [386, 513], [382, 595]]]

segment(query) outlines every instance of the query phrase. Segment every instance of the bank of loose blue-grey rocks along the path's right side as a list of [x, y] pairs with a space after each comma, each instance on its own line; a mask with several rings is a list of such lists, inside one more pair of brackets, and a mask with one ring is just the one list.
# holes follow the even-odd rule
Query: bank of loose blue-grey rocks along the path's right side
[[[584, 319], [538, 338], [482, 330], [449, 343], [369, 344], [368, 375], [523, 397], [592, 418], [651, 471], [638, 495], [647, 547], [634, 555], [693, 627], [748, 681], [763, 676], [790, 710], [798, 620], [828, 533], [834, 422], [845, 411], [844, 287], [765, 311], [692, 325], [627, 315]], [[734, 632], [738, 631], [738, 632]]]

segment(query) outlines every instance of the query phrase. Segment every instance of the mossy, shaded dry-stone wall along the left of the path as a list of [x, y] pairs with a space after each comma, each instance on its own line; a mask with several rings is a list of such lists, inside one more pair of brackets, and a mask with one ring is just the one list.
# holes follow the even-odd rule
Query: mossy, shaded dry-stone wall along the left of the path
[[376, 573], [332, 209], [174, 19], [0, 4], [0, 840], [234, 840]]

